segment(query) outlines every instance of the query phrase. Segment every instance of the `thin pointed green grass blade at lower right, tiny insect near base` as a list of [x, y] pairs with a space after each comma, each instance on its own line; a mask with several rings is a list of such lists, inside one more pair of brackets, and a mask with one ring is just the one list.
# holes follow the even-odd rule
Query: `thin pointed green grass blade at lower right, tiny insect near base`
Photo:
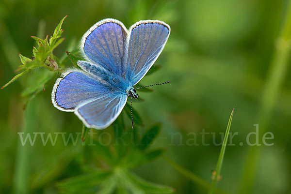
[[217, 162], [216, 169], [215, 169], [216, 173], [215, 173], [215, 176], [214, 176], [214, 179], [212, 181], [212, 184], [211, 184], [211, 187], [210, 187], [210, 190], [209, 190], [208, 194], [214, 194], [214, 191], [215, 191], [215, 188], [216, 188], [216, 185], [217, 185], [217, 179], [218, 179], [218, 176], [220, 175], [220, 170], [221, 170], [221, 167], [222, 167], [223, 158], [224, 158], [224, 155], [225, 155], [225, 152], [226, 152], [227, 138], [228, 138], [228, 134], [229, 134], [229, 130], [230, 130], [233, 111], [234, 111], [234, 109], [232, 109], [232, 112], [230, 114], [230, 118], [228, 120], [228, 124], [227, 124], [227, 127], [226, 127], [226, 134], [225, 134], [225, 137], [223, 139], [222, 147], [221, 147], [221, 150], [220, 150], [218, 162]]

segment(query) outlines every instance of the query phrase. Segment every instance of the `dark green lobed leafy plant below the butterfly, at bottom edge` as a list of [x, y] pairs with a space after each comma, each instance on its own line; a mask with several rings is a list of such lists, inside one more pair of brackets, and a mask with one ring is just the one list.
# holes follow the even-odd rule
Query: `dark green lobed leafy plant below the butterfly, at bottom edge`
[[174, 189], [171, 187], [148, 182], [130, 172], [130, 169], [162, 156], [165, 149], [149, 149], [160, 130], [161, 124], [156, 124], [139, 139], [137, 127], [134, 130], [131, 128], [126, 130], [121, 114], [113, 124], [114, 143], [105, 146], [94, 140], [92, 143], [95, 146], [88, 146], [88, 149], [96, 152], [97, 158], [92, 157], [89, 161], [98, 162], [94, 166], [91, 162], [89, 162], [91, 165], [83, 164], [84, 174], [59, 182], [61, 193], [110, 194], [114, 191], [118, 194], [173, 193]]

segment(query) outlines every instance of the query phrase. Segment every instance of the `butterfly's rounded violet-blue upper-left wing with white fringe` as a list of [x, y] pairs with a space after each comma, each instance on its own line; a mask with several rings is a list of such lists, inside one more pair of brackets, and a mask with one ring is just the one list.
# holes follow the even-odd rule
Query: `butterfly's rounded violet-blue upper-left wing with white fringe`
[[115, 75], [124, 70], [123, 55], [128, 30], [114, 19], [101, 20], [88, 30], [81, 41], [85, 56]]

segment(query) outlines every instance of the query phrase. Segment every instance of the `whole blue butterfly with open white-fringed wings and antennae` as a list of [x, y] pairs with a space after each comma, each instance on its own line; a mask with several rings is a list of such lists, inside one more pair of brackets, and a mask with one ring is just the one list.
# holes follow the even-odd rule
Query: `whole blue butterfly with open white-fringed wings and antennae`
[[169, 34], [170, 26], [158, 20], [139, 21], [129, 30], [115, 19], [97, 22], [81, 39], [82, 70], [72, 69], [56, 80], [53, 105], [74, 112], [88, 128], [108, 127], [128, 96], [138, 97], [133, 86], [157, 60]]

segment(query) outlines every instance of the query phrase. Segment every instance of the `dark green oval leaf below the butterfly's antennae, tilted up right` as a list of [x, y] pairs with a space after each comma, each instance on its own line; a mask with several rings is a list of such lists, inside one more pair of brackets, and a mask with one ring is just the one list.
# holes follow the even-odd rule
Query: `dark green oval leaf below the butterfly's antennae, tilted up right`
[[152, 128], [147, 130], [146, 134], [143, 136], [140, 144], [138, 146], [139, 149], [146, 149], [152, 143], [152, 141], [158, 136], [161, 131], [162, 124], [158, 123], [154, 125]]

